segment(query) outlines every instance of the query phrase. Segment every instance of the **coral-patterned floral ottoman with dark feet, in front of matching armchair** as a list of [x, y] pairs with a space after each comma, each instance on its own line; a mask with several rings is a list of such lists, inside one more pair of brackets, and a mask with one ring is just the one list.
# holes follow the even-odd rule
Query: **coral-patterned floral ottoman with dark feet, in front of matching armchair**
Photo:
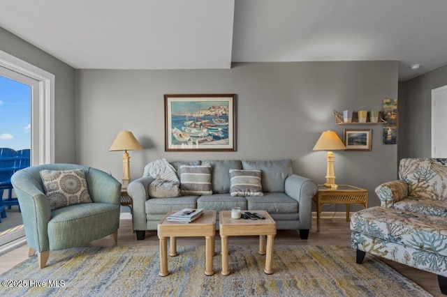
[[351, 216], [351, 245], [424, 271], [447, 276], [447, 220], [376, 206]]

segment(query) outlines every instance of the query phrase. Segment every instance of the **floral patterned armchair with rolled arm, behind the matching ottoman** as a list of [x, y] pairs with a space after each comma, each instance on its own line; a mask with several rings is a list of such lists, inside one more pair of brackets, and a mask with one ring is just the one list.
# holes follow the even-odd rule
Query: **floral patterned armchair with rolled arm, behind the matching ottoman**
[[381, 206], [447, 218], [447, 159], [402, 159], [399, 178], [376, 188]]

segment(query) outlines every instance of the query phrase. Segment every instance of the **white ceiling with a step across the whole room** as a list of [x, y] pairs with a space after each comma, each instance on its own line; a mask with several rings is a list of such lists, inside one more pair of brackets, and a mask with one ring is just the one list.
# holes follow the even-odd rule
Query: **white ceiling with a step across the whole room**
[[446, 13], [446, 0], [1, 0], [0, 26], [74, 68], [393, 60], [406, 80], [447, 65]]

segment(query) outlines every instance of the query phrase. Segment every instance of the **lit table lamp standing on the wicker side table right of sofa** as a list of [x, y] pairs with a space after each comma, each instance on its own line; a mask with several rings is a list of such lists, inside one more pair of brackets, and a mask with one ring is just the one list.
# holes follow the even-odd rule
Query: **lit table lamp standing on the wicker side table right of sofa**
[[321, 133], [320, 138], [316, 142], [314, 149], [312, 151], [328, 151], [326, 157], [328, 158], [328, 169], [326, 171], [326, 183], [324, 184], [327, 188], [338, 188], [335, 184], [335, 173], [334, 173], [334, 153], [332, 151], [346, 149], [342, 140], [339, 139], [337, 133], [334, 131], [325, 131]]

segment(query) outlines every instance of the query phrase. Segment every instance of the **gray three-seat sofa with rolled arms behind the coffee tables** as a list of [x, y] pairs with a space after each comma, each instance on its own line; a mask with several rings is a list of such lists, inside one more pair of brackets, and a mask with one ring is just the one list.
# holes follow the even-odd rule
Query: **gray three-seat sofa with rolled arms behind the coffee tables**
[[[277, 229], [298, 229], [300, 238], [307, 239], [312, 224], [312, 197], [317, 184], [292, 173], [292, 161], [203, 160], [170, 162], [177, 174], [182, 165], [211, 165], [212, 195], [185, 195], [169, 198], [149, 197], [152, 176], [142, 176], [127, 188], [133, 199], [133, 229], [138, 240], [145, 231], [156, 230], [157, 224], [169, 211], [182, 208], [205, 208], [227, 211], [235, 206], [242, 210], [267, 211], [277, 223]], [[263, 196], [233, 197], [230, 195], [230, 169], [260, 169]], [[219, 228], [219, 215], [217, 216]]]

